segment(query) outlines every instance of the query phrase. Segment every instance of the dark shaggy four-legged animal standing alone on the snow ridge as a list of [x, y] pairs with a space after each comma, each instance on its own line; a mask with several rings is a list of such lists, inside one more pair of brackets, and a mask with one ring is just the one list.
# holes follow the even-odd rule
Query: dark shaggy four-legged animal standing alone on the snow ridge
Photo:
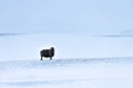
[[51, 47], [50, 50], [42, 50], [40, 52], [41, 55], [41, 61], [42, 57], [50, 57], [50, 59], [52, 59], [52, 57], [54, 56], [54, 47]]

